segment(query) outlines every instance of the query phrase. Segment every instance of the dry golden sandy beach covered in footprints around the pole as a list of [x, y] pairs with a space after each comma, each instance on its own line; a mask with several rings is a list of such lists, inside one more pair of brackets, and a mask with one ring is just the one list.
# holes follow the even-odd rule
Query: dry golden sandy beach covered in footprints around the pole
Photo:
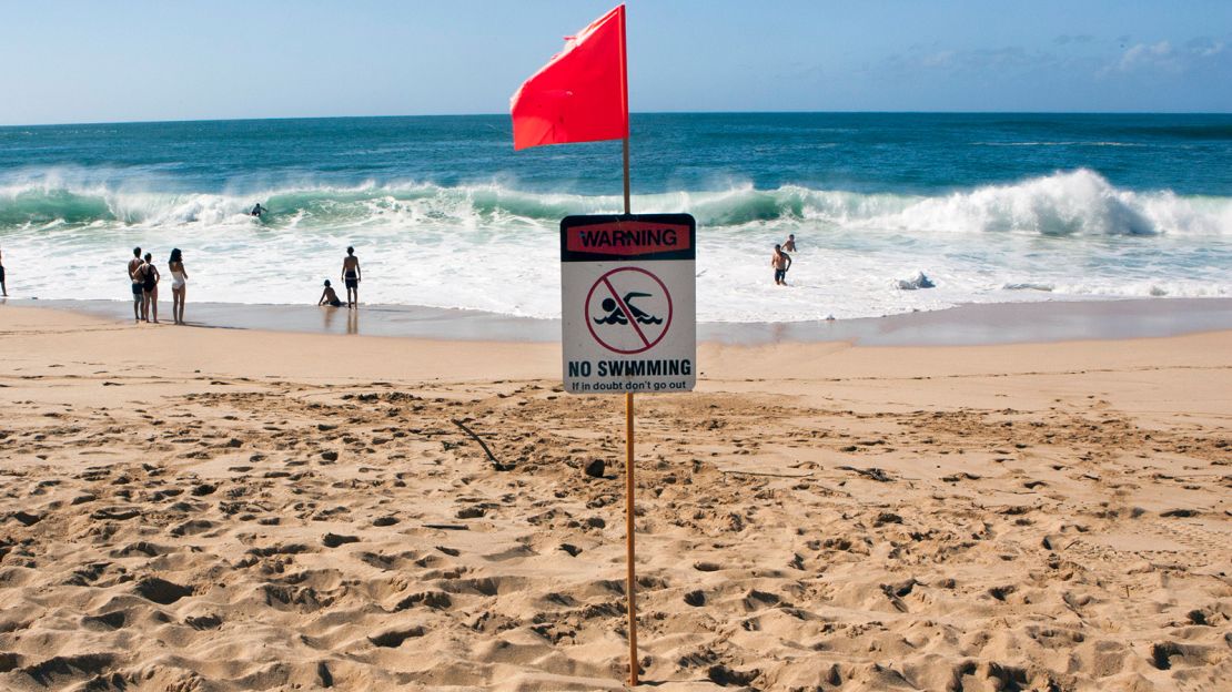
[[[647, 687], [1227, 690], [1232, 331], [736, 341], [637, 399]], [[622, 400], [558, 344], [0, 352], [0, 687], [625, 687]]]

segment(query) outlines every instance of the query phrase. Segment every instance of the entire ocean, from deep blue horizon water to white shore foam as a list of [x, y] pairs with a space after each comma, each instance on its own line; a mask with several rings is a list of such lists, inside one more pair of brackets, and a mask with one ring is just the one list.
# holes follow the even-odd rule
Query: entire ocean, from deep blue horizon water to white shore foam
[[[697, 218], [701, 321], [1232, 296], [1228, 115], [634, 113], [631, 129], [633, 212]], [[557, 318], [559, 219], [618, 213], [621, 188], [618, 142], [515, 153], [508, 116], [0, 128], [18, 298], [126, 300], [139, 245], [164, 271], [184, 251], [190, 305], [315, 303], [354, 245], [365, 302]], [[922, 272], [935, 287], [904, 288]]]

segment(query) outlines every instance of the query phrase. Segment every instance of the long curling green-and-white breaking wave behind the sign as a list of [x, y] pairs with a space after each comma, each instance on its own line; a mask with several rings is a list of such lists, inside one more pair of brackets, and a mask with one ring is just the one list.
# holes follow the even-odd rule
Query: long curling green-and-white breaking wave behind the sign
[[[271, 211], [260, 222], [246, 214], [257, 201]], [[702, 227], [774, 222], [788, 229], [792, 224], [822, 224], [904, 233], [1232, 235], [1232, 198], [1122, 190], [1085, 169], [934, 196], [738, 186], [639, 195], [633, 208], [643, 213], [689, 212]], [[367, 183], [205, 193], [112, 190], [105, 183], [73, 185], [46, 175], [0, 186], [0, 229], [255, 223], [271, 230], [419, 224], [499, 229], [549, 227], [568, 214], [620, 209], [618, 196], [522, 192], [496, 183]]]

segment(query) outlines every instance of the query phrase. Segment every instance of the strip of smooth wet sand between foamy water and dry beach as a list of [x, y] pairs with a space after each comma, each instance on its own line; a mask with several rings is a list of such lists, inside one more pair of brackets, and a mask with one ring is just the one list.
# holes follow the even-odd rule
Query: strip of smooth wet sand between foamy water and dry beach
[[[12, 300], [10, 304], [68, 309], [117, 320], [132, 316], [131, 304], [118, 300]], [[170, 305], [161, 307], [163, 314], [170, 315]], [[315, 305], [192, 303], [187, 316], [198, 326], [310, 334], [467, 341], [554, 342], [561, 339], [559, 320], [405, 305], [365, 305], [355, 312]], [[1142, 339], [1222, 329], [1232, 329], [1232, 299], [1169, 298], [962, 305], [833, 321], [703, 323], [697, 328], [697, 337], [738, 345], [849, 341], [862, 346], [962, 346]]]

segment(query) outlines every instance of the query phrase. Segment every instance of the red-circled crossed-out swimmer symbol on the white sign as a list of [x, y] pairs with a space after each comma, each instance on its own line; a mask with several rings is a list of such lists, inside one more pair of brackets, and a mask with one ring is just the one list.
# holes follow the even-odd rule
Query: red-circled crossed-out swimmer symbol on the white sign
[[671, 294], [653, 273], [620, 267], [599, 277], [585, 304], [586, 328], [604, 348], [641, 353], [663, 341], [671, 326]]

